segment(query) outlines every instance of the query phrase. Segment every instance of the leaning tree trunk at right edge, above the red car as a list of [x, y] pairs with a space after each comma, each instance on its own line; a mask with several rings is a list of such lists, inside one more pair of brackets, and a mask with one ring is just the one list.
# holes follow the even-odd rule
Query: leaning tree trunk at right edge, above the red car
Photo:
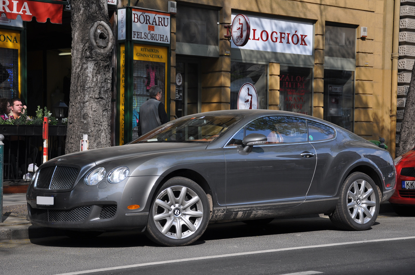
[[406, 97], [405, 111], [403, 113], [402, 127], [396, 156], [400, 156], [415, 146], [415, 65], [412, 68], [411, 82]]

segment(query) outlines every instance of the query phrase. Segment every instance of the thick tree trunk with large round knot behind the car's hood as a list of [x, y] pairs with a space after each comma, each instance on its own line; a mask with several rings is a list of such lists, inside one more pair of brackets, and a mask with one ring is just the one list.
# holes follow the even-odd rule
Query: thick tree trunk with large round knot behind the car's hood
[[114, 35], [106, 0], [72, 0], [72, 75], [65, 152], [110, 146], [111, 58]]

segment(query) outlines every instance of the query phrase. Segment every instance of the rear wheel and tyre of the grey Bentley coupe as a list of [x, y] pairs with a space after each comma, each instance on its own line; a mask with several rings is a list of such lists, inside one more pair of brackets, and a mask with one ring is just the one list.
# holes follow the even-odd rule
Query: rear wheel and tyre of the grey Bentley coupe
[[378, 217], [379, 204], [374, 181], [364, 173], [354, 172], [344, 181], [339, 202], [329, 217], [341, 229], [367, 230]]

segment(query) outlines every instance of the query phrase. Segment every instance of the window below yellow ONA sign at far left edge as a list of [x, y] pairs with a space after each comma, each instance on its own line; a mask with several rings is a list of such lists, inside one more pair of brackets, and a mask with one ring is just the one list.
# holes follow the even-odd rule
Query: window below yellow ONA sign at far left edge
[[0, 48], [0, 97], [19, 97], [19, 51]]

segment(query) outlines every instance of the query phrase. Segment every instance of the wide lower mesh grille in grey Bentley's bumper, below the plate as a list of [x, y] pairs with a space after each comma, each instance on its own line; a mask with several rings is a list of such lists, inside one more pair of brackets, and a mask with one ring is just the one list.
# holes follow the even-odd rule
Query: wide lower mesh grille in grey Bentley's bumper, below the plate
[[80, 222], [85, 220], [91, 205], [75, 207], [71, 210], [40, 209], [28, 205], [29, 217], [42, 222]]

